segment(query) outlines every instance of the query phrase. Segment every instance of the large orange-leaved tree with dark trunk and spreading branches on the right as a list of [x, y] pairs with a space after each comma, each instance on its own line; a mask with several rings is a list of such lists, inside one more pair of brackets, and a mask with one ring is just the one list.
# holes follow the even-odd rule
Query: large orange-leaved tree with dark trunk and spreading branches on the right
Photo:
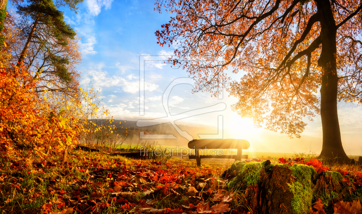
[[[158, 0], [171, 20], [156, 32], [196, 90], [227, 87], [257, 125], [300, 137], [320, 114], [320, 156], [347, 158], [337, 100], [362, 104], [361, 0]], [[231, 80], [227, 70], [245, 72]], [[320, 89], [320, 96], [318, 95]]]

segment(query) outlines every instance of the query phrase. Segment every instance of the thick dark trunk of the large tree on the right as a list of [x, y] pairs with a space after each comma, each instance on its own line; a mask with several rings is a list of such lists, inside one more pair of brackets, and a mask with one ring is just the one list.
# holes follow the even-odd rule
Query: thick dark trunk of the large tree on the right
[[320, 13], [322, 50], [318, 66], [322, 68], [322, 85], [320, 89], [323, 146], [319, 158], [348, 158], [342, 147], [341, 131], [337, 114], [337, 61], [336, 61], [336, 22], [334, 21], [329, 0], [318, 0]]

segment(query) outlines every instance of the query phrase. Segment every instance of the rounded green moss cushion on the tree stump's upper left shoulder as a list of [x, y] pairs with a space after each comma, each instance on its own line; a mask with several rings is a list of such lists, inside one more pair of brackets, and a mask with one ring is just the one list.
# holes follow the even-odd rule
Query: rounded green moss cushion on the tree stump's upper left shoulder
[[242, 177], [244, 184], [247, 186], [255, 185], [260, 182], [260, 170], [263, 167], [261, 163], [250, 162], [244, 165], [244, 167], [239, 172], [239, 176]]

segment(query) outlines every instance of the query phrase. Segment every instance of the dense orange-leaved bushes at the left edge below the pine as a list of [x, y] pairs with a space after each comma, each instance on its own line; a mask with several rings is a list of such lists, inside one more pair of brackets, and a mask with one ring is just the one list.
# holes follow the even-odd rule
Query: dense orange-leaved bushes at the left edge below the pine
[[39, 155], [51, 150], [62, 152], [74, 147], [79, 139], [78, 118], [63, 117], [57, 109], [36, 96], [37, 82], [27, 71], [18, 68], [0, 71], [0, 143], [3, 150], [35, 149]]

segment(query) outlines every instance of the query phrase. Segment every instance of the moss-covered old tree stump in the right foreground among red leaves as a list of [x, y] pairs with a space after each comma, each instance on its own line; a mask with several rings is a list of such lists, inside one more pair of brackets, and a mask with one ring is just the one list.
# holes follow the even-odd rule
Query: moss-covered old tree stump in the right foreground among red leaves
[[304, 214], [310, 213], [312, 202], [318, 198], [325, 207], [350, 198], [339, 172], [318, 175], [304, 164], [235, 161], [222, 176], [231, 178], [229, 189], [244, 191], [243, 206], [253, 213]]

